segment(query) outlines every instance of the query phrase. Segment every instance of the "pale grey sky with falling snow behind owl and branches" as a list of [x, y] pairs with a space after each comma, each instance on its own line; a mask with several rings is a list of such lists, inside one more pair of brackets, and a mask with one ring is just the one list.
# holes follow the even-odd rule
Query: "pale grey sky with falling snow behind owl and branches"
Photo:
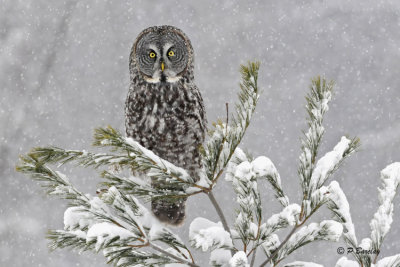
[[[89, 148], [95, 127], [124, 131], [132, 43], [144, 28], [161, 24], [181, 28], [192, 40], [196, 83], [210, 122], [225, 117], [225, 102], [233, 109], [239, 65], [261, 61], [264, 93], [241, 147], [274, 162], [292, 202], [300, 200], [299, 138], [306, 129], [304, 96], [310, 79], [320, 74], [336, 81], [321, 155], [342, 135], [361, 138], [361, 150], [334, 178], [349, 200], [357, 238], [370, 235], [379, 172], [400, 161], [400, 3], [243, 2], [0, 1], [1, 266], [105, 266], [101, 255], [90, 252], [48, 253], [45, 233], [62, 227], [65, 203], [45, 197], [14, 166], [18, 155], [33, 146], [83, 149]], [[95, 172], [64, 171], [94, 194], [100, 182]], [[233, 219], [229, 187], [221, 180], [216, 197]], [[279, 206], [271, 190], [264, 195], [269, 217]], [[217, 220], [207, 201], [201, 196], [189, 200], [189, 216], [177, 230], [185, 240], [195, 217]], [[394, 212], [380, 257], [400, 252], [399, 197]], [[329, 213], [311, 221], [324, 216]], [[332, 266], [340, 245], [308, 245], [290, 259]], [[208, 257], [196, 256], [207, 266]]]

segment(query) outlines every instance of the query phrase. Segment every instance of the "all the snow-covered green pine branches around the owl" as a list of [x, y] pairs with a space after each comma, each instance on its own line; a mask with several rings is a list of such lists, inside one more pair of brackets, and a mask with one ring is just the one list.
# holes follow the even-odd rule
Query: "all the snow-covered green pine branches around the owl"
[[[259, 63], [249, 63], [240, 71], [242, 82], [236, 113], [230, 122], [227, 117], [226, 122], [218, 121], [213, 125], [201, 148], [204, 168], [197, 182], [184, 169], [111, 127], [95, 130], [93, 145], [106, 151], [103, 153], [39, 147], [21, 156], [17, 171], [38, 181], [49, 195], [68, 201], [64, 229], [48, 232], [49, 247], [102, 251], [107, 262], [115, 266], [199, 266], [185, 242], [158, 222], [140, 200], [187, 198], [204, 193], [221, 222], [196, 218], [190, 225], [189, 241], [195, 249], [211, 251], [212, 266], [254, 266], [259, 248], [265, 254], [260, 266], [277, 266], [308, 243], [336, 242], [340, 237], [354, 248], [352, 254], [356, 261], [342, 257], [336, 266], [399, 266], [400, 255], [380, 261], [377, 258], [392, 223], [393, 198], [400, 183], [400, 163], [393, 163], [382, 171], [380, 207], [370, 224], [371, 238], [363, 239], [359, 244], [349, 204], [339, 183], [332, 181], [326, 185], [344, 160], [359, 147], [359, 139], [342, 137], [332, 151], [318, 159], [325, 132], [323, 118], [329, 109], [333, 82], [316, 77], [306, 97], [309, 128], [301, 140], [298, 174], [303, 198], [299, 205], [290, 203], [280, 175], [269, 158], [253, 158], [238, 147], [260, 96]], [[100, 169], [103, 188], [97, 196], [80, 192], [66, 175], [56, 170], [67, 163]], [[225, 180], [232, 184], [236, 193], [237, 216], [230, 224], [213, 195], [213, 188], [224, 173]], [[166, 181], [171, 186], [153, 188], [149, 178]], [[271, 185], [282, 205], [281, 212], [270, 217], [266, 215], [262, 209], [259, 182]], [[332, 211], [333, 219], [308, 223], [324, 205]], [[278, 232], [285, 228], [291, 230], [281, 239]], [[376, 253], [356, 253], [360, 247]], [[321, 265], [296, 261], [284, 266]]]

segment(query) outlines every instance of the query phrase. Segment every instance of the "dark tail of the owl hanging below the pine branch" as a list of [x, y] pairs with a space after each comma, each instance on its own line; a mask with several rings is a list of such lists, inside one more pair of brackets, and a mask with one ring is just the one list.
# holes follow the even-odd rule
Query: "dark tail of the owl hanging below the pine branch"
[[151, 211], [164, 223], [178, 226], [185, 220], [186, 199], [168, 201], [158, 199], [151, 201]]

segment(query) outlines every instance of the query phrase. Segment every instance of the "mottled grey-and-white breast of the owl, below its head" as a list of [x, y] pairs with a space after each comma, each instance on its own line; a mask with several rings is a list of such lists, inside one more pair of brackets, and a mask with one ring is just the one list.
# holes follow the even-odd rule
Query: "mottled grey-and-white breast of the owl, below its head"
[[177, 166], [200, 167], [206, 119], [193, 83], [131, 85], [125, 105], [128, 137]]

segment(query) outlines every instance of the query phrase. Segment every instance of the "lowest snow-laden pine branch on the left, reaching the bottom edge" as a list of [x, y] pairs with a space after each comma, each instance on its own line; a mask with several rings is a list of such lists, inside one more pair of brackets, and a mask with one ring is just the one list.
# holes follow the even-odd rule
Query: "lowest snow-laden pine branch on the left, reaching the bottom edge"
[[[159, 241], [171, 248], [180, 247], [189, 251], [169, 230], [142, 225], [140, 218], [148, 216], [149, 212], [134, 197], [122, 195], [115, 187], [111, 187], [101, 194], [101, 199], [90, 199], [76, 190], [65, 175], [53, 171], [32, 155], [21, 157], [17, 170], [39, 181], [49, 194], [68, 199], [72, 205], [65, 212], [66, 230], [50, 231], [48, 234], [52, 249], [72, 247], [82, 251], [103, 250], [108, 261], [116, 266], [133, 263], [148, 265], [149, 259], [153, 260], [152, 264], [179, 262], [197, 266], [183, 258], [172, 257], [171, 253], [153, 244]], [[157, 247], [157, 251], [168, 257], [132, 250], [146, 247]]]

